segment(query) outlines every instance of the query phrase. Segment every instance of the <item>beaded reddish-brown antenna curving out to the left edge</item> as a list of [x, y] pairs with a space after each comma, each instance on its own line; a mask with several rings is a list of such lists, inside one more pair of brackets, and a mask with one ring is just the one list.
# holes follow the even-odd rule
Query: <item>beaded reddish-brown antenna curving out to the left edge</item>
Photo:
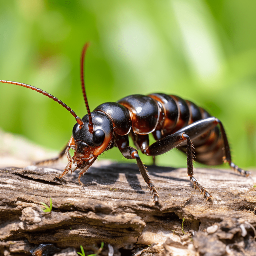
[[16, 84], [16, 85], [20, 85], [20, 86], [23, 86], [23, 87], [26, 87], [26, 88], [29, 88], [29, 89], [32, 89], [34, 91], [37, 91], [39, 93], [42, 93], [44, 94], [45, 96], [48, 96], [50, 99], [53, 99], [54, 101], [57, 101], [59, 104], [61, 104], [65, 109], [67, 109], [73, 116], [74, 118], [76, 119], [77, 123], [80, 125], [79, 128], [81, 129], [83, 127], [83, 121], [81, 120], [80, 117], [78, 117], [76, 115], [76, 113], [70, 108], [68, 107], [65, 103], [63, 103], [61, 100], [57, 99], [56, 97], [52, 96], [51, 94], [49, 94], [48, 92], [46, 91], [43, 91], [39, 88], [36, 88], [34, 86], [31, 86], [29, 84], [25, 84], [25, 83], [18, 83], [18, 82], [12, 82], [12, 81], [5, 81], [5, 80], [0, 80], [1, 83], [11, 83], [11, 84]]

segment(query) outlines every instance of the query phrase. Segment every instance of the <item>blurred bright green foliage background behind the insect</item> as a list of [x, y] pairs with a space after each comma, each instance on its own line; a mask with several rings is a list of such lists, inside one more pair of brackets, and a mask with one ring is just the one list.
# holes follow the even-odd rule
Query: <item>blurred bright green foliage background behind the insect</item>
[[[245, 0], [0, 1], [0, 79], [41, 88], [82, 118], [80, 51], [90, 41], [85, 74], [91, 110], [135, 93], [177, 94], [218, 117], [234, 162], [253, 168], [255, 13], [256, 1]], [[4, 131], [56, 150], [75, 124], [53, 100], [11, 84], [0, 84], [0, 108]], [[116, 148], [104, 158], [128, 161]], [[157, 163], [186, 166], [186, 158], [173, 150]]]

